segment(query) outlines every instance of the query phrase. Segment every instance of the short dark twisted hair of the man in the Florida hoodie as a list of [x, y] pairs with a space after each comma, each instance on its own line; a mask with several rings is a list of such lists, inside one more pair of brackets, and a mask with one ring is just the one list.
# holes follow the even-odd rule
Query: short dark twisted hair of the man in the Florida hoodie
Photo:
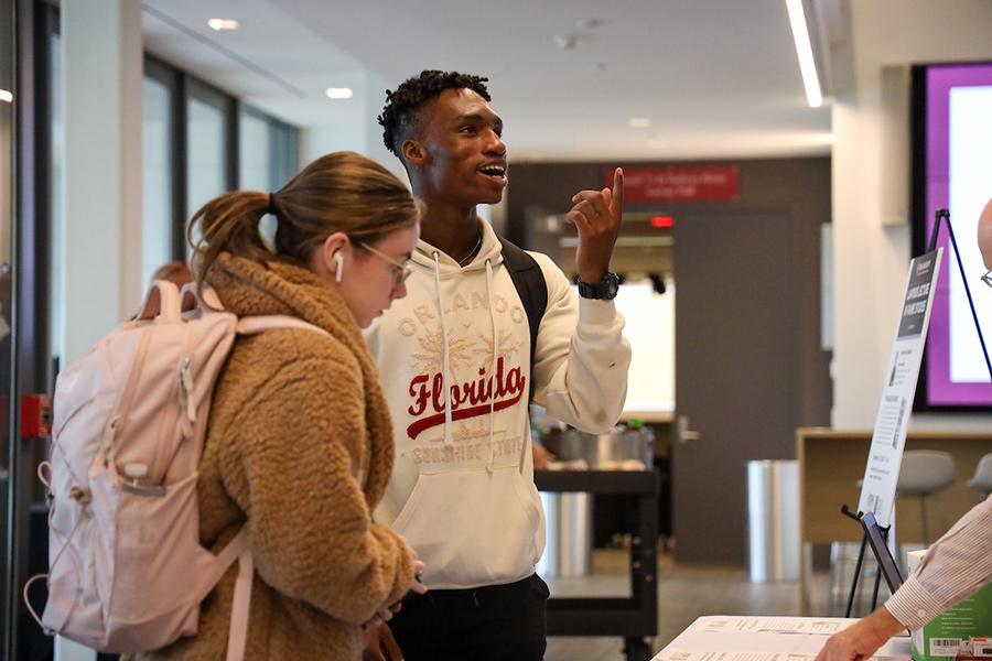
[[386, 149], [397, 156], [397, 133], [406, 132], [417, 123], [420, 109], [424, 101], [434, 98], [445, 89], [471, 89], [487, 101], [489, 91], [485, 83], [488, 78], [460, 74], [459, 72], [439, 72], [424, 69], [419, 76], [407, 78], [396, 91], [386, 90], [386, 106], [379, 116], [379, 124], [382, 127], [382, 141]]

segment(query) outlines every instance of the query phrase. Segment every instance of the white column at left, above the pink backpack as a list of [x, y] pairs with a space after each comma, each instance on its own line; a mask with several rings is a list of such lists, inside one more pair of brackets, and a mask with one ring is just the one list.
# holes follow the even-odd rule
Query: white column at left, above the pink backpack
[[63, 3], [62, 43], [68, 362], [141, 297], [140, 1]]

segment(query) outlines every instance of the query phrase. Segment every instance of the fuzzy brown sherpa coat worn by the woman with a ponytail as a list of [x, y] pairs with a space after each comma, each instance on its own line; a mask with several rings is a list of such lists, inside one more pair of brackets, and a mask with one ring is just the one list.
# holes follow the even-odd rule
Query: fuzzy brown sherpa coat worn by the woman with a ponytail
[[[413, 579], [403, 543], [370, 518], [392, 468], [375, 365], [344, 300], [310, 271], [222, 254], [209, 282], [239, 316], [293, 315], [332, 335], [239, 337], [214, 391], [200, 534], [216, 553], [247, 520], [246, 659], [357, 660], [359, 625]], [[236, 574], [204, 600], [196, 636], [139, 658], [223, 660]]]

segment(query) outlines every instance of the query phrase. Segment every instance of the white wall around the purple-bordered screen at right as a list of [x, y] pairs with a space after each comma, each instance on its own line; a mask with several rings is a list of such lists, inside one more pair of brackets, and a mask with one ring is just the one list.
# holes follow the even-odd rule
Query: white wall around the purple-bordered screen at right
[[[909, 227], [883, 226], [883, 177], [908, 176], [908, 170], [883, 158], [886, 122], [905, 118], [883, 110], [882, 67], [992, 59], [992, 2], [852, 0], [850, 11], [850, 43], [834, 44], [834, 57], [853, 53], [854, 76], [833, 99], [832, 422], [871, 429], [910, 253]], [[913, 424], [972, 427], [988, 421], [915, 416]]]

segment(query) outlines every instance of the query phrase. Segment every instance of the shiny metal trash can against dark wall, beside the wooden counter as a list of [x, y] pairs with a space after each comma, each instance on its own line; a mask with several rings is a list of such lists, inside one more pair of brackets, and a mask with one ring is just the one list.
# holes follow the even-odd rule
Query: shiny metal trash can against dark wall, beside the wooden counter
[[798, 462], [747, 462], [747, 533], [753, 583], [799, 579]]

